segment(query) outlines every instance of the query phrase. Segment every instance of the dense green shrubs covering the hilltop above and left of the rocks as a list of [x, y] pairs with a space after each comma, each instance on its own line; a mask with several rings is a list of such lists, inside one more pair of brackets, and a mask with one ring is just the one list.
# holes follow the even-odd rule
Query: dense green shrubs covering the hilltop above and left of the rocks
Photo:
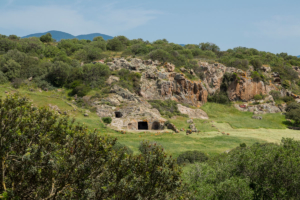
[[[220, 62], [243, 70], [252, 65], [255, 70], [252, 78], [266, 83], [268, 80], [263, 76], [261, 67], [269, 65], [273, 71], [279, 72], [283, 87], [299, 91], [300, 81], [291, 66], [300, 66], [300, 58], [286, 53], [272, 54], [244, 47], [220, 51], [212, 43], [181, 46], [165, 39], [150, 43], [142, 39], [129, 40], [124, 36], [108, 41], [95, 37], [93, 41], [67, 39], [55, 42], [49, 33], [40, 38], [24, 39], [15, 35], [0, 35], [0, 83], [10, 81], [19, 87], [24, 80], [32, 77], [36, 85], [43, 89], [67, 87], [73, 90], [71, 94], [78, 93], [81, 96], [89, 89], [100, 89], [105, 93], [105, 80], [111, 73], [109, 68], [104, 64], [89, 63], [99, 59], [108, 62], [114, 55], [172, 62], [176, 67], [193, 69], [201, 79], [204, 74], [197, 59]], [[139, 74], [132, 75], [121, 70], [115, 75], [121, 77], [122, 86], [138, 92]]]

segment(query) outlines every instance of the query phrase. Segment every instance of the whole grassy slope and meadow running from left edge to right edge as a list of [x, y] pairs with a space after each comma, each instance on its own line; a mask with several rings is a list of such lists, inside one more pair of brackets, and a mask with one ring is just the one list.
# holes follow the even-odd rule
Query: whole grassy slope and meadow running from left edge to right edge
[[[74, 111], [68, 104], [70, 101], [67, 101], [67, 92], [39, 92], [37, 90], [30, 92], [28, 88], [15, 90], [10, 85], [1, 85], [0, 96], [5, 96], [5, 91], [9, 93], [18, 91], [32, 99], [35, 106], [57, 105], [62, 111], [68, 111], [69, 115], [76, 118], [78, 122], [85, 123], [90, 128], [97, 128], [101, 134], [117, 137], [120, 143], [128, 145], [135, 153], [138, 152], [138, 145], [142, 140], [157, 141], [165, 147], [167, 152], [176, 157], [187, 150], [201, 150], [208, 154], [217, 154], [234, 148], [243, 142], [251, 145], [255, 142], [279, 142], [282, 137], [300, 139], [299, 131], [283, 129], [285, 128], [282, 123], [284, 117], [280, 114], [264, 115], [264, 119], [261, 121], [253, 120], [251, 119], [251, 113], [239, 112], [233, 107], [212, 103], [207, 103], [202, 107], [208, 113], [210, 120], [194, 120], [198, 130], [201, 131], [200, 133], [186, 136], [184, 131], [173, 134], [170, 130], [166, 130], [164, 133], [135, 132], [121, 134], [105, 128], [95, 113], [90, 113], [89, 117], [84, 117], [85, 110], [77, 108]], [[189, 124], [186, 123], [186, 120], [187, 118], [184, 117], [170, 119], [179, 129], [188, 128]], [[212, 127], [212, 125], [215, 127]], [[223, 131], [230, 133], [230, 135], [222, 135], [221, 132]]]

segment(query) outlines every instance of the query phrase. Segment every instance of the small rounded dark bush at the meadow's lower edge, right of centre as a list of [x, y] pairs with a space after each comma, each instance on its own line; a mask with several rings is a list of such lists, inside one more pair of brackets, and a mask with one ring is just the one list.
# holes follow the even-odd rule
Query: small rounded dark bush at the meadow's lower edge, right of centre
[[195, 162], [205, 162], [208, 160], [208, 156], [201, 151], [186, 151], [180, 154], [177, 158], [177, 163], [179, 165], [184, 163], [195, 163]]

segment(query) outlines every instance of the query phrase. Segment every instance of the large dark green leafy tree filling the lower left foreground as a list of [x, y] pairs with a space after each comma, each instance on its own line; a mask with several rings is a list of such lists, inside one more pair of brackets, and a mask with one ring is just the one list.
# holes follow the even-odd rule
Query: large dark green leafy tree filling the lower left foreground
[[18, 95], [0, 99], [0, 124], [1, 198], [189, 197], [181, 169], [159, 147], [136, 156], [115, 151], [116, 139]]

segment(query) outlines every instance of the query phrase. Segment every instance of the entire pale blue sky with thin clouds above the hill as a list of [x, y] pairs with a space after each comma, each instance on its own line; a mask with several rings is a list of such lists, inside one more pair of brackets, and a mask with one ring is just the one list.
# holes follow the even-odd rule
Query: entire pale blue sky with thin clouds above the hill
[[58, 30], [300, 55], [299, 0], [0, 0], [0, 34]]

